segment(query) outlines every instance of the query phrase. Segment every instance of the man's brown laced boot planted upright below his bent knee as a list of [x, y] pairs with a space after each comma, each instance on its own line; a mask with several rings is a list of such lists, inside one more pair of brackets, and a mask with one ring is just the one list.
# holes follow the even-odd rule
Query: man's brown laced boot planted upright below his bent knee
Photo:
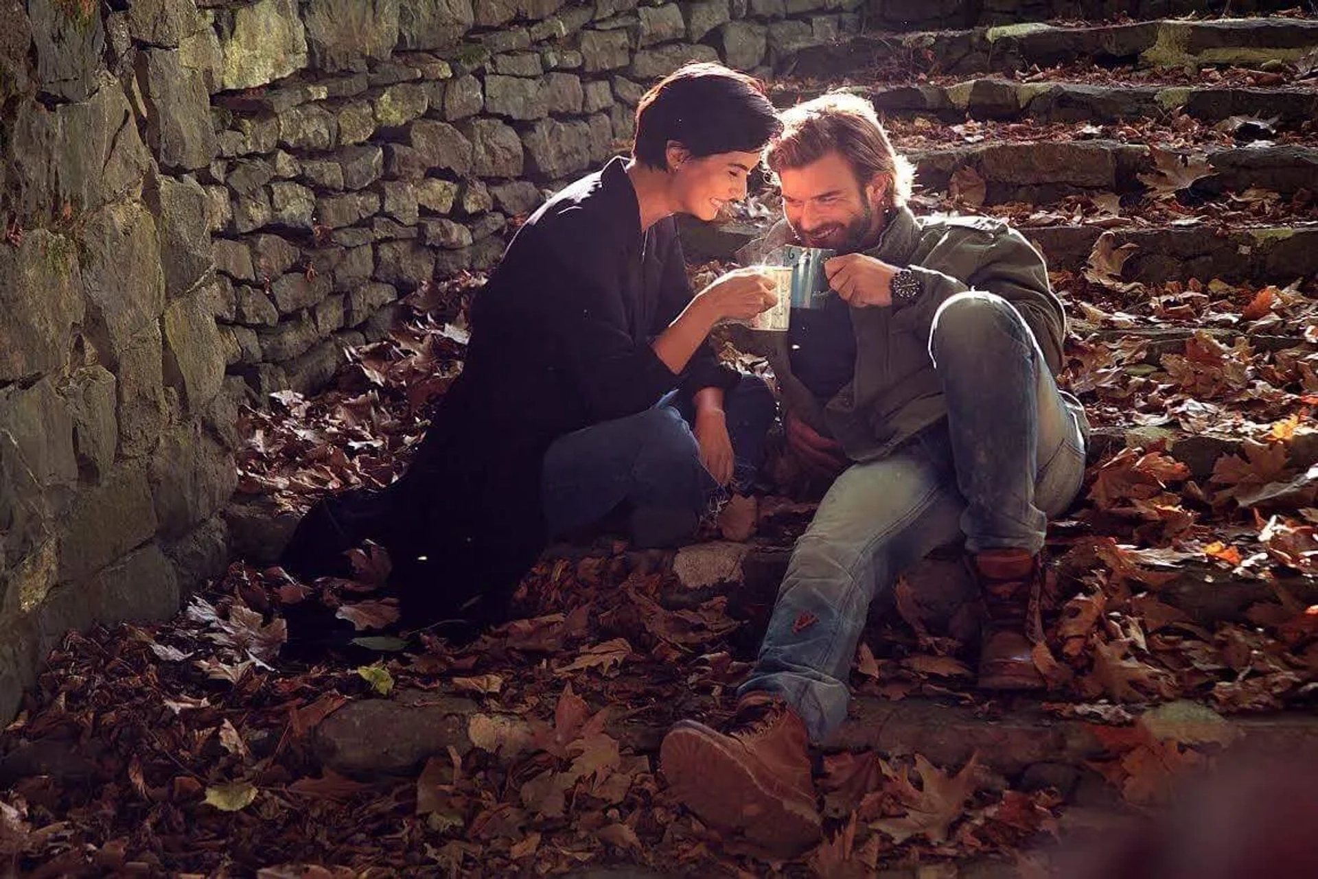
[[1024, 550], [990, 550], [971, 560], [985, 615], [979, 638], [981, 689], [1043, 689], [1035, 666], [1043, 568]]

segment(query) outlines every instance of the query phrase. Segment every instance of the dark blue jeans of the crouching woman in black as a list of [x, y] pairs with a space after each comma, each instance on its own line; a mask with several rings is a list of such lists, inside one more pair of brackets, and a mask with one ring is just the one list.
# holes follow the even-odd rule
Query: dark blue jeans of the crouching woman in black
[[[754, 482], [776, 414], [774, 393], [758, 376], [743, 374], [724, 395], [734, 490], [745, 492]], [[702, 515], [722, 488], [701, 463], [693, 419], [691, 395], [675, 390], [643, 412], [555, 440], [542, 470], [550, 534], [561, 536], [598, 522], [622, 503]]]

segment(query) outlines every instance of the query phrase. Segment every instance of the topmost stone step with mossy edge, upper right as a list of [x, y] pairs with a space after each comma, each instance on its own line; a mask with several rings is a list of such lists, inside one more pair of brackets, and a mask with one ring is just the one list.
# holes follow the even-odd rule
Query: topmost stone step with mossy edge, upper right
[[775, 72], [836, 79], [908, 66], [913, 75], [1052, 67], [1077, 58], [1140, 67], [1259, 67], [1293, 62], [1318, 46], [1318, 21], [1219, 18], [1137, 21], [1060, 26], [1037, 22], [921, 33], [863, 33], [805, 46], [784, 57]]

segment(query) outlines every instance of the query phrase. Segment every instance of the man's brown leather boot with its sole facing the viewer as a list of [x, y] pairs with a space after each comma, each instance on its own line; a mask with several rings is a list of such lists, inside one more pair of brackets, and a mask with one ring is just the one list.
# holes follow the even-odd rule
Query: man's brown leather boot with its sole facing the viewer
[[728, 733], [679, 721], [659, 763], [673, 796], [710, 825], [783, 858], [820, 841], [809, 735], [776, 696], [745, 696]]

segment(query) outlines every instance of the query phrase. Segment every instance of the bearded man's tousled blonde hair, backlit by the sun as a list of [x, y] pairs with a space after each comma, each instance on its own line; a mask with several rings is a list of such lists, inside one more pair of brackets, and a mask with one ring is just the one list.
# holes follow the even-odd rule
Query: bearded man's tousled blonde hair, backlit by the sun
[[783, 133], [764, 146], [764, 165], [776, 177], [783, 169], [804, 167], [837, 152], [865, 187], [875, 174], [890, 181], [888, 207], [911, 198], [915, 166], [892, 149], [874, 105], [849, 92], [829, 92], [782, 113]]

